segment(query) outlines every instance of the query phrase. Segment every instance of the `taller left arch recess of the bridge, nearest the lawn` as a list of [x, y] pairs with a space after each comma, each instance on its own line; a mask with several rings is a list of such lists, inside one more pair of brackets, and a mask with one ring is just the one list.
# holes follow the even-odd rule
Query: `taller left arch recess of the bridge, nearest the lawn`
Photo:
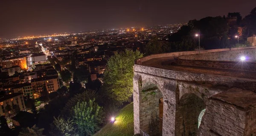
[[150, 136], [162, 135], [163, 93], [151, 78], [142, 81], [140, 89], [140, 130]]

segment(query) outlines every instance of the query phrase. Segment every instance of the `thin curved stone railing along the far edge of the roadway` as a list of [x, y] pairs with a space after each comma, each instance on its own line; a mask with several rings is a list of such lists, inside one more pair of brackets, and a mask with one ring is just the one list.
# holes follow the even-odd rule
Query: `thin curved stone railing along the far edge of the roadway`
[[[214, 53], [214, 52], [221, 52], [221, 51], [229, 51], [229, 50], [244, 50], [244, 49], [252, 49], [256, 48], [255, 46], [252, 47], [239, 47], [239, 48], [225, 48], [225, 49], [213, 49], [213, 50], [201, 50], [200, 53]], [[144, 61], [148, 61], [152, 58], [164, 58], [164, 57], [178, 57], [184, 55], [191, 55], [197, 54], [199, 51], [184, 51], [184, 52], [173, 52], [173, 53], [162, 53], [162, 54], [153, 54], [150, 56], [145, 56], [143, 58], [139, 58], [134, 61], [134, 64], [141, 65]]]

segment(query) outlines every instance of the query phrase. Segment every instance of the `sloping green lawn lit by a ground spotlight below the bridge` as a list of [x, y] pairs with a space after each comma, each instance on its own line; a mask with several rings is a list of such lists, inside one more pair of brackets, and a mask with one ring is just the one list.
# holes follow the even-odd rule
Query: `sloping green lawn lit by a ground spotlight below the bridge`
[[133, 103], [131, 103], [119, 111], [114, 123], [109, 122], [93, 136], [133, 136], [133, 117]]

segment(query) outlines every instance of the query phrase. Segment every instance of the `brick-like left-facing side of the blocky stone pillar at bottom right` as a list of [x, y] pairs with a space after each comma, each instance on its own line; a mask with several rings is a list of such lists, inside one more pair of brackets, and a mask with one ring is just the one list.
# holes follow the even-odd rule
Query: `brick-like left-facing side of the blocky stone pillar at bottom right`
[[245, 112], [218, 100], [209, 100], [199, 136], [244, 136]]

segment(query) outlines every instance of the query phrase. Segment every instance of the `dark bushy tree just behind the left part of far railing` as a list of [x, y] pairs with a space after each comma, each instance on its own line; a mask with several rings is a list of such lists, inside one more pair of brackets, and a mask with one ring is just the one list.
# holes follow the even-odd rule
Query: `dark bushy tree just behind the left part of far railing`
[[169, 42], [160, 41], [157, 37], [151, 39], [145, 46], [145, 55], [167, 53], [170, 50]]

